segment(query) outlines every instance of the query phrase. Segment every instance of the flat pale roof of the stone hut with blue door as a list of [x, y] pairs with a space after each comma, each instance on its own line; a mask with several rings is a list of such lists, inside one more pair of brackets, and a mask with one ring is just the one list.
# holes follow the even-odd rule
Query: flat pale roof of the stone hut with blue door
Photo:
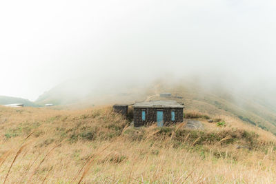
[[149, 101], [137, 102], [133, 108], [184, 108], [184, 106], [176, 101]]

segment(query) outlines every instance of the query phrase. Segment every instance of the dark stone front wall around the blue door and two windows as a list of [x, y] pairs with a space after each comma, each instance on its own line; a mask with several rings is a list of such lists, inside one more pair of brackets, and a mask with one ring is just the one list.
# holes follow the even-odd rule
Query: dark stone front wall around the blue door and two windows
[[[142, 110], [146, 110], [146, 121], [142, 121]], [[183, 108], [134, 108], [133, 121], [135, 127], [149, 125], [157, 121], [157, 110], [163, 110], [164, 125], [183, 122]], [[175, 111], [175, 121], [171, 121], [171, 111]]]

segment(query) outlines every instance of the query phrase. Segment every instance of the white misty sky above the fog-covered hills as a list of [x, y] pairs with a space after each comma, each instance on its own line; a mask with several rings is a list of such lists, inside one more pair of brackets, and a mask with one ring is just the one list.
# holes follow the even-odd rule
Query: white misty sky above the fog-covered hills
[[82, 76], [118, 82], [199, 75], [274, 86], [275, 6], [266, 0], [0, 1], [0, 95], [35, 100]]

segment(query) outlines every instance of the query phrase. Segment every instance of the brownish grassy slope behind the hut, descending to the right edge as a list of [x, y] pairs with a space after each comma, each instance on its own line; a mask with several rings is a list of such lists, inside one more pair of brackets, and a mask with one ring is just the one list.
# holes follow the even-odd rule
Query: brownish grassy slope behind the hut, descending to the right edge
[[[247, 125], [257, 126], [276, 134], [276, 106], [256, 96], [235, 93], [219, 87], [206, 90], [190, 83], [181, 85], [161, 83], [148, 90], [148, 94], [159, 92], [172, 92], [173, 96], [183, 96], [183, 99], [174, 97], [169, 99], [185, 103], [186, 110], [197, 110], [211, 116], [231, 116]], [[152, 96], [150, 99], [162, 98]]]

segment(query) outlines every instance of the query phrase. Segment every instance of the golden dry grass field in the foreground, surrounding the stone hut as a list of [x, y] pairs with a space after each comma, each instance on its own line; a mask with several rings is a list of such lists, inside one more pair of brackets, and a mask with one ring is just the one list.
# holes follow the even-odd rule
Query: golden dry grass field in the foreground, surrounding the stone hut
[[212, 118], [226, 126], [134, 128], [109, 106], [0, 107], [0, 183], [276, 183], [275, 136]]

